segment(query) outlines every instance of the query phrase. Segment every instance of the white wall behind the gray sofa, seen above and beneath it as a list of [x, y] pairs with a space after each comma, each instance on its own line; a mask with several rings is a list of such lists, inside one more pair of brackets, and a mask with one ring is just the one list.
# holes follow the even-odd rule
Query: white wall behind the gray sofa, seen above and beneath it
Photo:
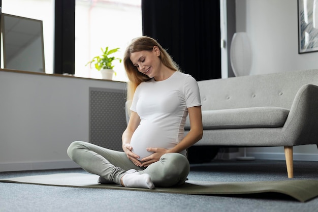
[[[298, 54], [296, 0], [236, 0], [236, 5], [237, 32], [246, 30], [250, 39], [251, 75], [318, 68], [318, 52]], [[284, 160], [283, 147], [248, 148], [247, 155]], [[317, 146], [294, 147], [294, 159], [318, 161]]]

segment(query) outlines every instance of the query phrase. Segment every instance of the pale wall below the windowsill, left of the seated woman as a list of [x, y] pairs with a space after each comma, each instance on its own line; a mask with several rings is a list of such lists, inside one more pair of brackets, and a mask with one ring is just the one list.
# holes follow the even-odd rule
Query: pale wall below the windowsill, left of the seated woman
[[77, 167], [67, 148], [88, 141], [89, 87], [126, 84], [0, 71], [0, 171]]

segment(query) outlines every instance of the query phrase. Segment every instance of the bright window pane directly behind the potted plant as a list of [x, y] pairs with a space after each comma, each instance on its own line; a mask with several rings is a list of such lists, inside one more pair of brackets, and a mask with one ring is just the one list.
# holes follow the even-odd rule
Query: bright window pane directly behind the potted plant
[[[75, 76], [101, 78], [101, 73], [86, 66], [101, 48], [120, 48], [115, 57], [123, 58], [126, 46], [142, 36], [141, 0], [76, 0]], [[115, 62], [114, 80], [128, 81], [123, 63]]]

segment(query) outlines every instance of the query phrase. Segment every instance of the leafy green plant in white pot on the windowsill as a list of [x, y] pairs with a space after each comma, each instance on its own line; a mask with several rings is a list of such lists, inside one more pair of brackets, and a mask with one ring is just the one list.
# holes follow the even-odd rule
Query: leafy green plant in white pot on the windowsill
[[108, 46], [105, 48], [105, 50], [103, 50], [103, 48], [101, 48], [103, 54], [96, 56], [96, 57], [93, 57], [92, 60], [86, 64], [86, 66], [88, 64], [91, 65], [93, 63], [95, 68], [98, 71], [101, 71], [102, 79], [112, 80], [113, 75], [115, 74], [115, 76], [116, 76], [116, 72], [113, 70], [114, 65], [112, 63], [114, 60], [119, 60], [119, 63], [121, 63], [121, 59], [118, 57], [109, 56], [110, 54], [117, 52], [119, 48], [110, 49], [110, 50], [108, 50], [108, 49], [109, 49]]

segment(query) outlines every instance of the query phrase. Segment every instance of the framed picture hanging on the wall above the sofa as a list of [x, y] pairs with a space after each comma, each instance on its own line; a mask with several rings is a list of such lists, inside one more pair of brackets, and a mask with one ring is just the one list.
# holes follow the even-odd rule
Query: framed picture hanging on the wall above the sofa
[[318, 51], [318, 0], [298, 0], [298, 49]]

